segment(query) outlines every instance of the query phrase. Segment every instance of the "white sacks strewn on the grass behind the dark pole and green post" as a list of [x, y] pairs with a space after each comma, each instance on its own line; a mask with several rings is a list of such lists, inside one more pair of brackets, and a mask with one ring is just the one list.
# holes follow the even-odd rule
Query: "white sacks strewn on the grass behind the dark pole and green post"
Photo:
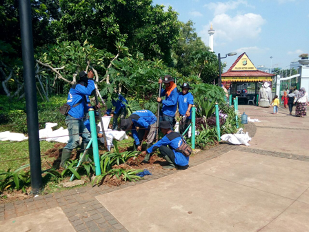
[[[110, 124], [110, 116], [102, 117], [103, 126], [104, 128], [108, 128], [108, 124]], [[69, 132], [68, 129], [64, 129], [63, 127], [52, 130], [54, 126], [57, 126], [57, 123], [47, 122], [45, 124], [45, 129], [39, 130], [39, 139], [40, 140], [46, 140], [47, 142], [61, 142], [66, 144], [69, 140]], [[97, 128], [99, 128], [98, 131], [102, 132], [101, 123], [97, 125]], [[106, 142], [108, 145], [108, 150], [110, 150], [110, 147], [112, 146], [112, 139], [117, 139], [118, 141], [122, 139], [128, 139], [128, 136], [126, 135], [125, 131], [112, 131], [111, 129], [105, 129], [106, 131]], [[23, 140], [28, 139], [25, 135], [22, 133], [11, 133], [10, 131], [5, 131], [0, 133], [0, 141], [16, 141], [20, 142]], [[104, 143], [103, 137], [100, 138], [100, 141]]]

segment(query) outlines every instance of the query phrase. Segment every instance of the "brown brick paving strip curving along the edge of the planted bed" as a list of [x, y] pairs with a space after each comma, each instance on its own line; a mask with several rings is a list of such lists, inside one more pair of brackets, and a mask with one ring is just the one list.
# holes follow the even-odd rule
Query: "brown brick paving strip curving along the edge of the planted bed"
[[[255, 126], [253, 123], [249, 123], [246, 125], [245, 131], [249, 133], [250, 137], [254, 137], [257, 131], [257, 126]], [[246, 146], [220, 144], [219, 146], [211, 148], [208, 151], [199, 152], [196, 157], [192, 159], [192, 161], [190, 160], [190, 167], [197, 166], [198, 164], [211, 160], [232, 150], [309, 162], [309, 157], [303, 155], [276, 153]], [[127, 188], [135, 184], [142, 184], [150, 180], [156, 180], [175, 172], [177, 171], [168, 171], [162, 169], [159, 171], [154, 171], [152, 175], [145, 176], [144, 179], [139, 182], [128, 182], [121, 186], [103, 185], [94, 186], [92, 188], [92, 186], [88, 185], [78, 189], [62, 191], [60, 193], [41, 195], [39, 197], [32, 197], [27, 200], [19, 200], [7, 204], [0, 204], [0, 221], [17, 218], [19, 216], [28, 215], [30, 213], [36, 213], [60, 206], [76, 231], [127, 231], [113, 217], [113, 215], [111, 215], [96, 200], [95, 197], [97, 195], [102, 195], [112, 191], [117, 191], [119, 189]]]

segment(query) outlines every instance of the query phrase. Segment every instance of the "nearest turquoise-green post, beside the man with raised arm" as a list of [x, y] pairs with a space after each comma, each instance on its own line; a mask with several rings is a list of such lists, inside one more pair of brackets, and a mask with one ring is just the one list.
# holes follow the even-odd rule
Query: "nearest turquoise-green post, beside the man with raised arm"
[[92, 137], [92, 151], [93, 151], [93, 159], [94, 159], [94, 166], [95, 166], [95, 175], [101, 175], [98, 137], [97, 137], [97, 124], [95, 123], [94, 109], [89, 108], [88, 112], [90, 116], [90, 130], [91, 130], [91, 137]]

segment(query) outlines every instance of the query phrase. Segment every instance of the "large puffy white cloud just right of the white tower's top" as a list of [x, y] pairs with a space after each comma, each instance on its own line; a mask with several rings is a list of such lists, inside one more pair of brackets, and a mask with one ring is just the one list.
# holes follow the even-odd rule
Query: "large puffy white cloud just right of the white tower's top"
[[259, 14], [238, 14], [235, 17], [230, 17], [228, 14], [218, 14], [207, 26], [203, 27], [201, 35], [208, 38], [208, 30], [212, 24], [217, 43], [235, 41], [235, 39], [256, 39], [265, 22], [266, 20]]

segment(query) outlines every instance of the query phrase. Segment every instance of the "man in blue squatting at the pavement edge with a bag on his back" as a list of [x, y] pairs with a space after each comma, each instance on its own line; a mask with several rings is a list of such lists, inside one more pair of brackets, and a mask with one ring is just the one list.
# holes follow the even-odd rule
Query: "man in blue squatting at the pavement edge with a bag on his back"
[[175, 169], [177, 166], [187, 166], [189, 164], [189, 155], [192, 152], [190, 146], [186, 144], [179, 133], [171, 130], [170, 122], [161, 122], [160, 129], [165, 136], [143, 153], [146, 154], [146, 156], [150, 156], [150, 153], [159, 148], [161, 157], [168, 162], [167, 166], [163, 166], [164, 169]]

